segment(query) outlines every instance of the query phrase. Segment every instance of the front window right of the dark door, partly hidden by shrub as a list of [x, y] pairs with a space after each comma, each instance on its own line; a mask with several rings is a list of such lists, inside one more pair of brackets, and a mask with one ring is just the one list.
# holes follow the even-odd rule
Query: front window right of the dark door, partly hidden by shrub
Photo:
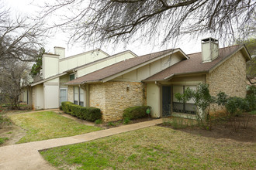
[[184, 101], [178, 101], [175, 97], [175, 93], [184, 93], [186, 88], [196, 90], [195, 86], [173, 86], [173, 102], [172, 110], [174, 112], [185, 113], [185, 114], [195, 114], [196, 107], [193, 100], [189, 100], [186, 103]]

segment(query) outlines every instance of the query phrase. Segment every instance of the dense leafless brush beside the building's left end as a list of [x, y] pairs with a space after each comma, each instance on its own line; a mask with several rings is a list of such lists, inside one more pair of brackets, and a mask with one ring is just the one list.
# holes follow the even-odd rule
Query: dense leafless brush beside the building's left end
[[0, 98], [19, 109], [19, 95], [28, 83], [28, 63], [17, 59], [6, 59], [0, 64]]

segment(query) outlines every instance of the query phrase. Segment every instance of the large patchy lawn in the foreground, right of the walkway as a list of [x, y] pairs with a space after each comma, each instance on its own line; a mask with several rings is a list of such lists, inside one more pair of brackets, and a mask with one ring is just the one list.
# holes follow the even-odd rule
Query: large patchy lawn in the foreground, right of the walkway
[[254, 169], [255, 151], [252, 143], [151, 127], [40, 153], [60, 169]]

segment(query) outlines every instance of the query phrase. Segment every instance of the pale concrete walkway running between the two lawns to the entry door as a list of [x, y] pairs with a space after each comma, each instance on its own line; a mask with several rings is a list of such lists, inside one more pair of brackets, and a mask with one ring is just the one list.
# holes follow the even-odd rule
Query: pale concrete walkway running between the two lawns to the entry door
[[55, 169], [43, 159], [39, 153], [40, 150], [64, 145], [78, 144], [85, 141], [92, 141], [114, 134], [147, 128], [156, 124], [161, 124], [162, 122], [162, 119], [156, 119], [154, 121], [128, 124], [117, 128], [94, 131], [88, 134], [79, 134], [72, 137], [55, 138], [46, 141], [34, 141], [25, 144], [0, 147], [0, 169]]

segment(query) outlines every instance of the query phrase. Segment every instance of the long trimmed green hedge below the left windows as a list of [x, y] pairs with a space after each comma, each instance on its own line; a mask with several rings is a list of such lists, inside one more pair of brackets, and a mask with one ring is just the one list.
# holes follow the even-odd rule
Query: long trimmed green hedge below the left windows
[[79, 105], [73, 104], [69, 101], [64, 101], [61, 103], [62, 110], [66, 114], [71, 114], [79, 119], [84, 119], [86, 121], [96, 121], [102, 118], [102, 112], [99, 108], [95, 107], [81, 107]]

